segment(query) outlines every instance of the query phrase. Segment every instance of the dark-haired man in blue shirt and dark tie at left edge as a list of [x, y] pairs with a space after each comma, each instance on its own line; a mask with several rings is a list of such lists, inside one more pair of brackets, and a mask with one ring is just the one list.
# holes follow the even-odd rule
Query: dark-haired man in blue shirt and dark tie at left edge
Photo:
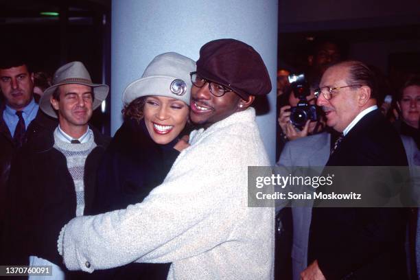
[[47, 117], [34, 100], [34, 75], [16, 54], [0, 58], [0, 238], [6, 205], [6, 183], [16, 150], [42, 128], [52, 129], [56, 121]]

